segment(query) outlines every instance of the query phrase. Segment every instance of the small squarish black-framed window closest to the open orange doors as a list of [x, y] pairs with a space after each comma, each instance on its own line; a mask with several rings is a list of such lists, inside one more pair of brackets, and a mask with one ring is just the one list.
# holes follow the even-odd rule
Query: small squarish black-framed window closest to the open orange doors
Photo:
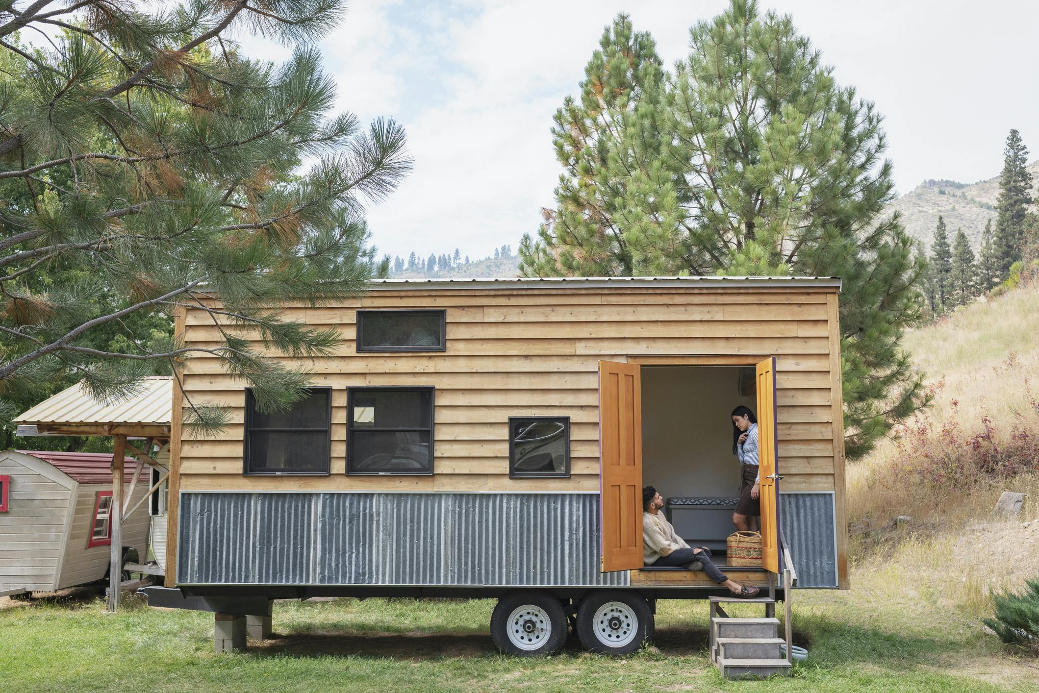
[[509, 417], [510, 478], [569, 476], [569, 417]]

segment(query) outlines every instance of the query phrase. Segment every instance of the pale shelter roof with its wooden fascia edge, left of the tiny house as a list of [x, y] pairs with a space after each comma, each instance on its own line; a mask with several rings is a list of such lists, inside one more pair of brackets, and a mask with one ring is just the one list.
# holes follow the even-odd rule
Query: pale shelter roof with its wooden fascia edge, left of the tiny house
[[[140, 392], [105, 404], [90, 397], [77, 382], [45, 399], [15, 419], [52, 435], [161, 435], [172, 420], [174, 379], [168, 375], [144, 378]], [[131, 431], [133, 429], [133, 431]]]

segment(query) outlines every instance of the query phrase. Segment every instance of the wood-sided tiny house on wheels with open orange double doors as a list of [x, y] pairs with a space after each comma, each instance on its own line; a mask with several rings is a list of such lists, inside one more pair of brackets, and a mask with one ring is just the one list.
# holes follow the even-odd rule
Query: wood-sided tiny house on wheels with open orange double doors
[[[290, 411], [259, 411], [208, 354], [186, 363], [187, 396], [234, 423], [195, 437], [174, 417], [178, 590], [149, 588], [152, 604], [231, 618], [269, 614], [273, 597], [497, 597], [507, 651], [558, 647], [566, 615], [586, 646], [630, 651], [656, 599], [720, 593], [702, 572], [643, 569], [640, 489], [654, 484], [690, 538], [723, 548], [738, 404], [758, 410], [766, 557], [729, 576], [769, 586], [790, 568], [800, 588], [847, 587], [838, 290], [387, 281], [352, 302], [287, 306], [344, 340], [300, 362], [314, 387]], [[202, 310], [178, 318], [189, 346], [214, 346], [219, 329], [259, 339]]]

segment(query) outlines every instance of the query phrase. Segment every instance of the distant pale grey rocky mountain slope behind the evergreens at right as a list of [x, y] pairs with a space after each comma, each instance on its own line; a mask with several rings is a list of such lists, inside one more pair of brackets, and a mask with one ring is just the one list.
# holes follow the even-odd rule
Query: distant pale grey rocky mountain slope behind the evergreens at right
[[[1032, 178], [1039, 182], [1039, 161], [1029, 166]], [[955, 181], [925, 181], [896, 199], [887, 212], [898, 211], [909, 235], [925, 248], [931, 247], [938, 215], [944, 217], [950, 239], [962, 228], [971, 245], [981, 245], [985, 221], [995, 223], [995, 201], [1000, 194], [998, 176], [970, 185]]]

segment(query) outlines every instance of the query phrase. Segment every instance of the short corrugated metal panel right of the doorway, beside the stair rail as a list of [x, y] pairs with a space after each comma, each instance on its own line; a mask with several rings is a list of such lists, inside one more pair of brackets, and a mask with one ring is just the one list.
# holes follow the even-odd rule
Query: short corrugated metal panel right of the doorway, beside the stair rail
[[833, 494], [779, 494], [779, 512], [798, 587], [836, 587]]

